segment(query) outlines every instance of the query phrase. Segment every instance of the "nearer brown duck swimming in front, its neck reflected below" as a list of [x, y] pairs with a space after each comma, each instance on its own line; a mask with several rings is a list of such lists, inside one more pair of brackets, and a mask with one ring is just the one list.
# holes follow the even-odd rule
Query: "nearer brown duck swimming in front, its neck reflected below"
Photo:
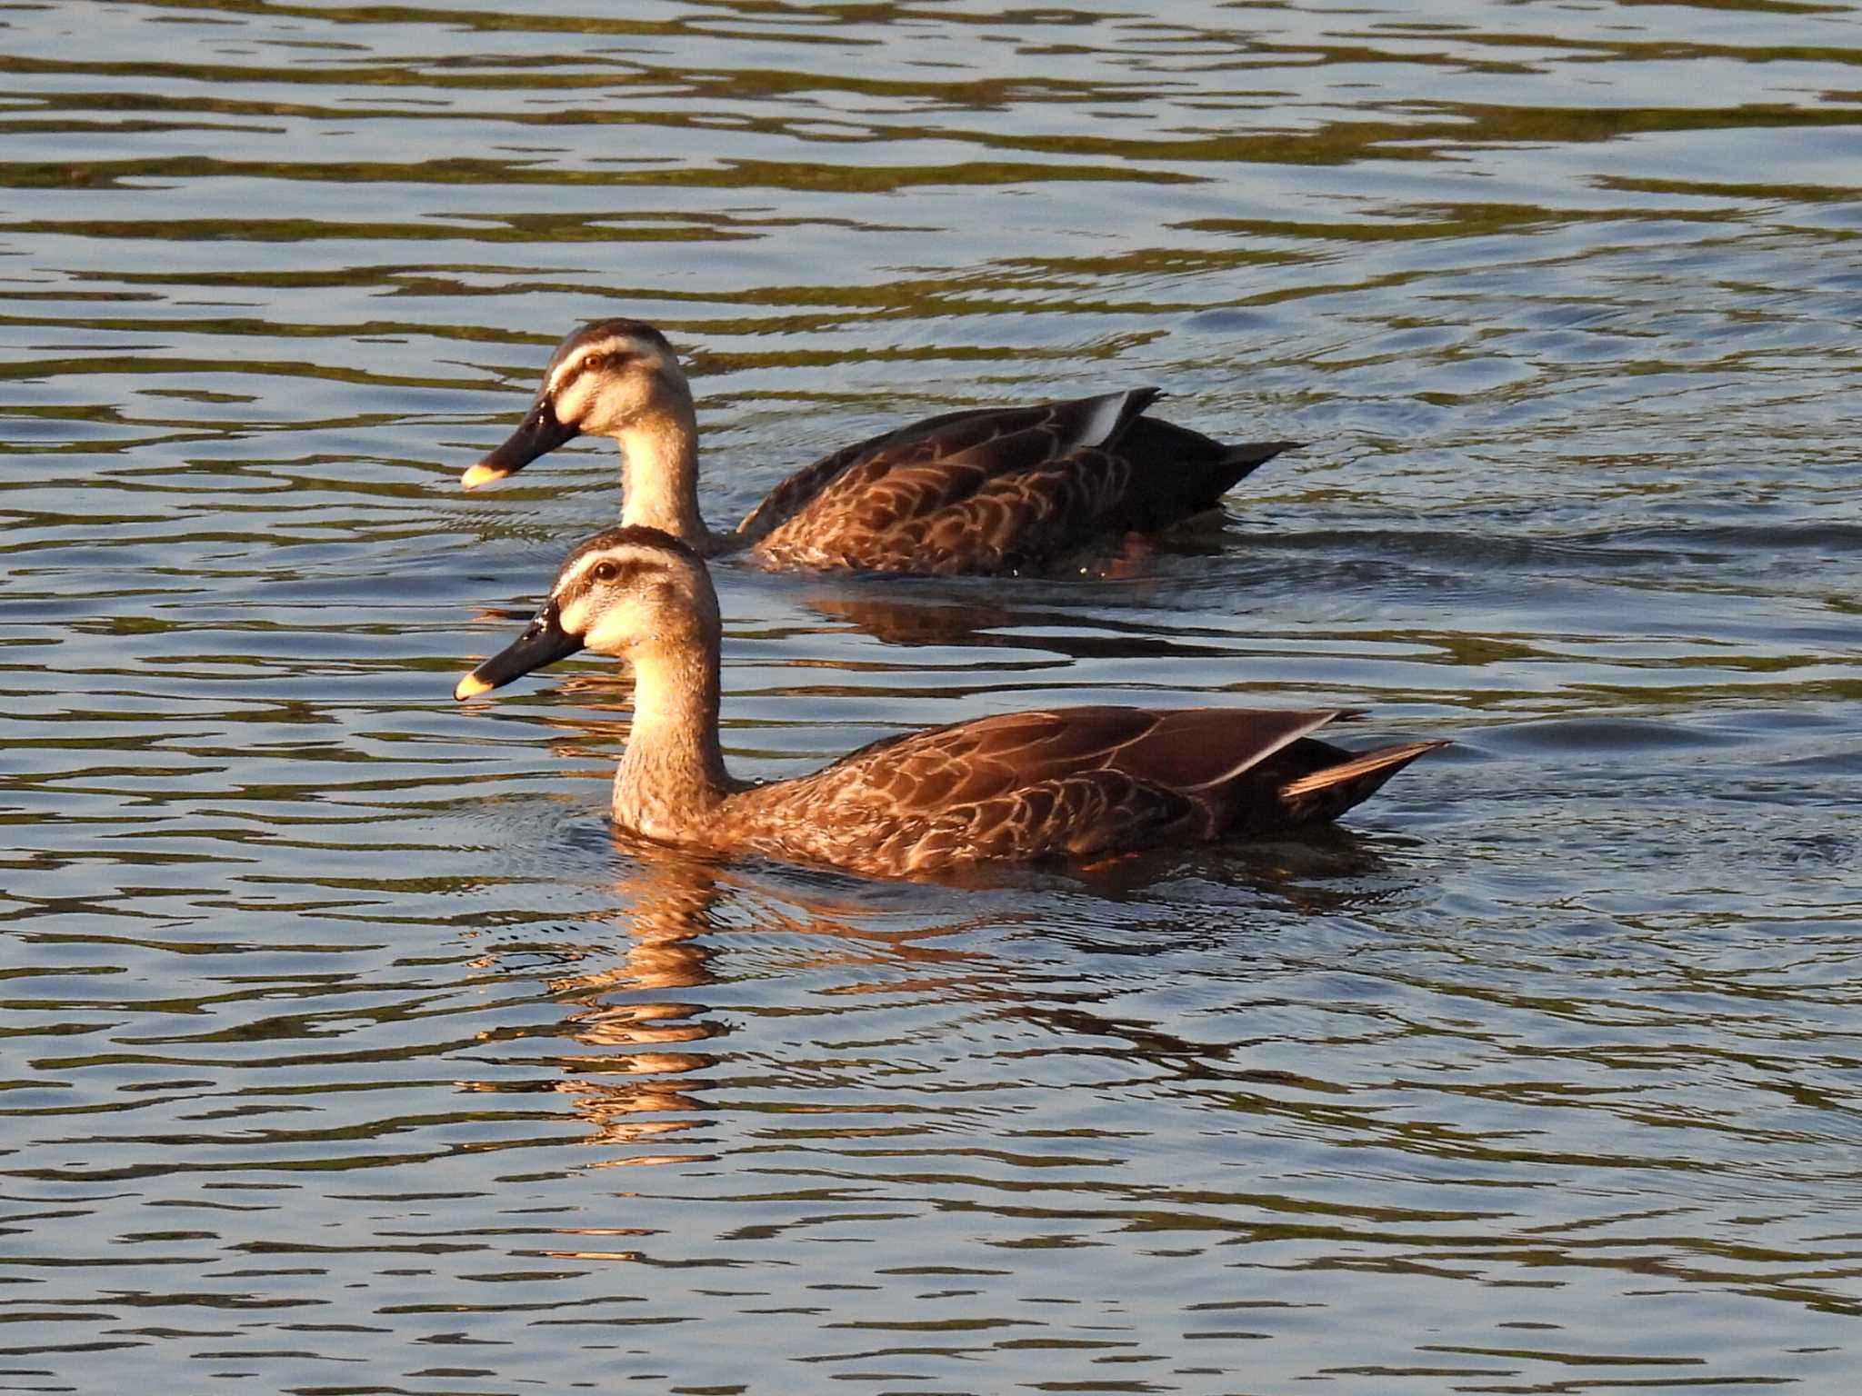
[[1335, 819], [1441, 741], [1348, 752], [1354, 713], [1045, 707], [907, 732], [814, 774], [739, 780], [719, 741], [717, 592], [695, 547], [622, 525], [579, 544], [536, 618], [454, 689], [475, 698], [579, 650], [633, 666], [614, 823], [657, 843], [877, 877], [1104, 860]]

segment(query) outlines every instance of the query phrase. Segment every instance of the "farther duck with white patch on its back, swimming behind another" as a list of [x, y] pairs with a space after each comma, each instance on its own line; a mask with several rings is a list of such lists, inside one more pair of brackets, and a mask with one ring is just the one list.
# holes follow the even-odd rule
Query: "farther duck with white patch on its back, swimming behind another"
[[624, 525], [704, 557], [778, 570], [1002, 575], [1108, 536], [1218, 506], [1298, 441], [1223, 445], [1147, 409], [1156, 387], [948, 411], [834, 450], [786, 478], [730, 532], [698, 512], [698, 417], [667, 337], [641, 320], [570, 333], [516, 430], [460, 484], [521, 471], [579, 434], [620, 445]]

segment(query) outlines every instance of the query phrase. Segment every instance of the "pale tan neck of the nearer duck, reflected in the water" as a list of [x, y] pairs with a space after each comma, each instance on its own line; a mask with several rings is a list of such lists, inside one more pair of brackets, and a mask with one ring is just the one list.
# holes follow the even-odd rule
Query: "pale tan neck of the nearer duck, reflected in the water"
[[614, 772], [614, 821], [695, 841], [732, 791], [717, 735], [717, 644], [631, 659], [633, 730]]

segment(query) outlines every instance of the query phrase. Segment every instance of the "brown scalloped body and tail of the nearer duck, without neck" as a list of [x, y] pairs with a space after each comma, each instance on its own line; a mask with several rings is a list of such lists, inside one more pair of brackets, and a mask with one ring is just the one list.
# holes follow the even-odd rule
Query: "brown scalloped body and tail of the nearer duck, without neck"
[[[1091, 856], [1329, 819], [1441, 743], [1367, 756], [1339, 711], [1069, 707], [873, 743], [749, 800], [782, 847], [883, 873]], [[1329, 771], [1341, 774], [1331, 776]], [[763, 799], [756, 799], [763, 797]]]

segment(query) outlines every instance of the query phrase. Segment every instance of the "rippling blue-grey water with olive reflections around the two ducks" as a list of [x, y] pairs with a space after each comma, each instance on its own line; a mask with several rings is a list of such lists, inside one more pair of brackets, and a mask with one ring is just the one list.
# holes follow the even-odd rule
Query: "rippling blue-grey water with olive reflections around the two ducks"
[[[1853, 1389], [1856, 6], [0, 24], [0, 1389]], [[449, 698], [613, 313], [715, 523], [951, 404], [1313, 443], [1078, 577], [721, 570], [741, 771], [1456, 746], [1087, 877], [616, 843], [616, 670]]]

